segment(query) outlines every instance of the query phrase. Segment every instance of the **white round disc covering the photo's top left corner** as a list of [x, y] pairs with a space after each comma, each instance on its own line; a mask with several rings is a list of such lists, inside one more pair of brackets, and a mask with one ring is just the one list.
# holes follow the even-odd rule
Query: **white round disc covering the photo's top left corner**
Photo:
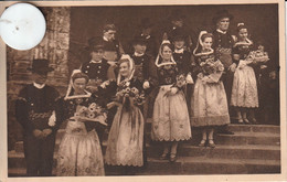
[[36, 46], [45, 31], [44, 15], [29, 3], [9, 7], [0, 18], [0, 35], [8, 46], [15, 50], [24, 51]]

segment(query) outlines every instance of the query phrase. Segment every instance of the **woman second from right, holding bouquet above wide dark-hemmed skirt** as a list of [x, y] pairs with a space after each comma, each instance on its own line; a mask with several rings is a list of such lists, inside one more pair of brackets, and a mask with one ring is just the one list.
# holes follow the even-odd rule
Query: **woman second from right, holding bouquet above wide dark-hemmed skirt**
[[230, 124], [230, 115], [225, 89], [220, 79], [224, 66], [221, 61], [214, 58], [212, 41], [213, 35], [202, 31], [193, 51], [201, 72], [198, 74], [191, 98], [191, 125], [202, 128], [202, 140], [199, 146], [205, 146], [209, 140], [208, 146], [214, 148], [214, 127]]

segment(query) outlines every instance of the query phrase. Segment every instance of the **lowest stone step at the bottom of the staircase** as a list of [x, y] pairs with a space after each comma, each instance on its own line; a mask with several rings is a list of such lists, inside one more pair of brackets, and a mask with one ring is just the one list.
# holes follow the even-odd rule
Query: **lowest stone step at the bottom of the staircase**
[[[106, 165], [106, 175], [120, 175], [120, 167]], [[134, 171], [137, 175], [167, 174], [263, 174], [280, 173], [280, 161], [258, 159], [208, 159], [204, 157], [179, 157], [177, 162], [149, 158], [146, 168]], [[9, 168], [9, 176], [24, 176], [24, 168]], [[53, 170], [55, 174], [55, 169]]]

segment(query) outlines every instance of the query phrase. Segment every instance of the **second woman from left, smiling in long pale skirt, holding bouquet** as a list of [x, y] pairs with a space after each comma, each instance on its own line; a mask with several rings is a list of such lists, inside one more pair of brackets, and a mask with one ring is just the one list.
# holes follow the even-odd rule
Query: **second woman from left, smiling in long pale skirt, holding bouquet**
[[107, 141], [105, 162], [110, 165], [141, 167], [144, 117], [139, 105], [144, 104], [142, 84], [134, 78], [134, 62], [128, 55], [119, 61], [116, 100], [108, 108], [117, 106]]

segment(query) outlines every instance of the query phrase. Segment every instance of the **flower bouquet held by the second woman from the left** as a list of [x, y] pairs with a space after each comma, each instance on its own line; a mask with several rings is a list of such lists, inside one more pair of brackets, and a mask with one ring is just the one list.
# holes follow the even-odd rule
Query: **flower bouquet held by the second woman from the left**
[[126, 98], [131, 98], [135, 105], [142, 105], [145, 103], [145, 94], [140, 93], [136, 87], [126, 87], [116, 94], [117, 100], [123, 103]]

